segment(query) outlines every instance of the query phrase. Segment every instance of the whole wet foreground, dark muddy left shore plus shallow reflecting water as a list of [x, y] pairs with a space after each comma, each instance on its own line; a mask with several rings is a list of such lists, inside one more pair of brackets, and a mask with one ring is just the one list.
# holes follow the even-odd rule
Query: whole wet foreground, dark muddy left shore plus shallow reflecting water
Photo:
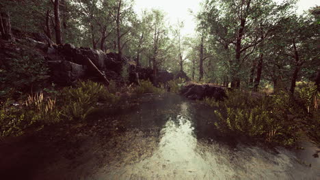
[[309, 142], [269, 149], [221, 137], [212, 108], [170, 93], [135, 104], [58, 141], [0, 143], [0, 179], [320, 179], [319, 149]]

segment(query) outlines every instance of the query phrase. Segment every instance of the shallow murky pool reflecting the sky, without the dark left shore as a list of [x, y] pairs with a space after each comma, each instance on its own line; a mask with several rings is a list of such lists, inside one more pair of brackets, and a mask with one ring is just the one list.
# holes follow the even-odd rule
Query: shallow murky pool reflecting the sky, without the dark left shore
[[[115, 155], [122, 154], [118, 161], [105, 162], [87, 178], [320, 179], [320, 166], [306, 165], [294, 151], [280, 147], [268, 150], [241, 140], [219, 138], [211, 108], [177, 95], [152, 98], [128, 114], [123, 112], [129, 127], [143, 134], [135, 136], [134, 142], [122, 142], [132, 147], [131, 153], [114, 149]], [[146, 138], [150, 138], [148, 145], [153, 144], [152, 151], [144, 148]]]

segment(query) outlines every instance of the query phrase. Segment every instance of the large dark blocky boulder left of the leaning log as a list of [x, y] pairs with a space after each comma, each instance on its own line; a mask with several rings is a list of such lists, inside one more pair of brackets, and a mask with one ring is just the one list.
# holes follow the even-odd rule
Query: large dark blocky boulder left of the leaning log
[[87, 67], [70, 61], [48, 61], [51, 80], [59, 85], [71, 85], [75, 80], [85, 77]]

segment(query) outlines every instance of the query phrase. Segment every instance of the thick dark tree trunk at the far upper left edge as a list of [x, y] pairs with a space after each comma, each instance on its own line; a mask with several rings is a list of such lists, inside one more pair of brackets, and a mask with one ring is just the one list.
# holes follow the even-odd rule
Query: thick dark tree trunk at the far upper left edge
[[12, 31], [11, 31], [9, 13], [8, 12], [1, 12], [0, 20], [1, 20], [0, 32], [1, 32], [1, 37], [3, 38], [3, 40], [15, 42], [14, 35], [12, 34]]

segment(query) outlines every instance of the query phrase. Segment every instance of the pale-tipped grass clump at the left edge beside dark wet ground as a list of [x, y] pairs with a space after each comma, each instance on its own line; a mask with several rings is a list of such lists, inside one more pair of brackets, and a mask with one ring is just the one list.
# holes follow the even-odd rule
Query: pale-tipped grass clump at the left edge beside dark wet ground
[[14, 106], [10, 100], [0, 106], [0, 136], [18, 136], [29, 127], [41, 128], [59, 121], [60, 111], [55, 100], [44, 99], [42, 93], [29, 95], [23, 106]]

